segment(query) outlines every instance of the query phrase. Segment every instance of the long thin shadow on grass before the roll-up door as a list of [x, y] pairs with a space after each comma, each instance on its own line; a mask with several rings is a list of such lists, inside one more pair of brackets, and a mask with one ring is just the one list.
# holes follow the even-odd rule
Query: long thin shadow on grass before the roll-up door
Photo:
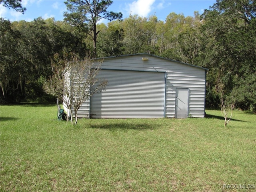
[[154, 130], [155, 127], [150, 124], [132, 124], [132, 123], [112, 123], [112, 124], [93, 124], [90, 126], [91, 128], [100, 128], [100, 129], [134, 129], [134, 130]]

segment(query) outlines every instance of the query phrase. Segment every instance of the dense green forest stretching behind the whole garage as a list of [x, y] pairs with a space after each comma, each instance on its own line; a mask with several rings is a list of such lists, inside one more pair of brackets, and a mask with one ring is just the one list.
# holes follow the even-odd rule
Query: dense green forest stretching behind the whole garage
[[221, 95], [232, 95], [236, 108], [256, 112], [254, 0], [218, 0], [202, 15], [172, 12], [165, 21], [155, 15], [120, 19], [119, 14], [119, 19], [96, 24], [95, 29], [88, 27], [88, 20], [70, 19], [72, 14], [66, 12], [64, 21], [0, 18], [1, 104], [54, 101], [42, 87], [52, 75], [56, 53], [75, 53], [81, 59], [88, 53], [149, 53], [208, 68], [206, 107], [218, 108]]

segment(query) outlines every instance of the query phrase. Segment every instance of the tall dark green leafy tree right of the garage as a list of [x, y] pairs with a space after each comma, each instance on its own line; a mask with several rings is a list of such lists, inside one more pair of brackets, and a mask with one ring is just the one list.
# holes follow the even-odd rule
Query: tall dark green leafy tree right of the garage
[[202, 55], [210, 69], [209, 86], [218, 94], [233, 92], [238, 108], [255, 110], [255, 1], [217, 1], [204, 12], [203, 20]]

